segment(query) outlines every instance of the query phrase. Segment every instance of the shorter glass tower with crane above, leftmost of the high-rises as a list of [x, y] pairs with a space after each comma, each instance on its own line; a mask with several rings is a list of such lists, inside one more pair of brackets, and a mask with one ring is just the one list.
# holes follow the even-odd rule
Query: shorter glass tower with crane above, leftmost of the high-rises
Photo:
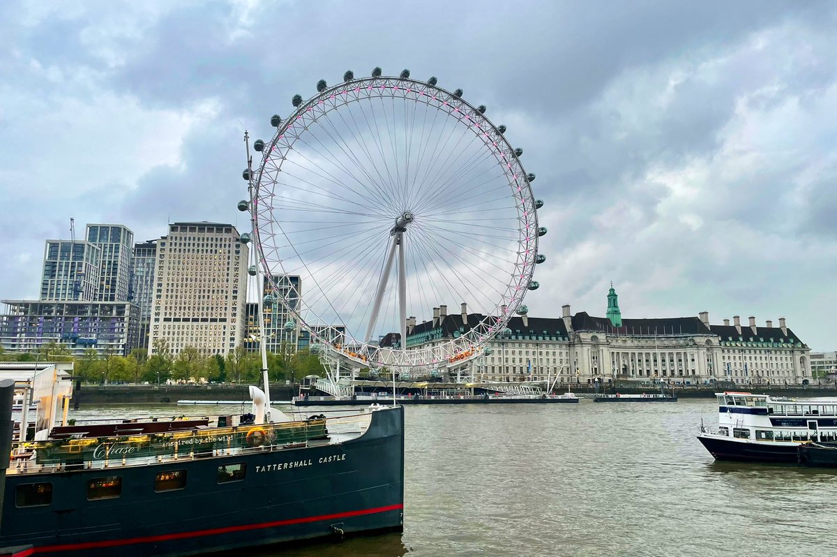
[[41, 300], [91, 301], [99, 286], [98, 246], [84, 240], [47, 240]]

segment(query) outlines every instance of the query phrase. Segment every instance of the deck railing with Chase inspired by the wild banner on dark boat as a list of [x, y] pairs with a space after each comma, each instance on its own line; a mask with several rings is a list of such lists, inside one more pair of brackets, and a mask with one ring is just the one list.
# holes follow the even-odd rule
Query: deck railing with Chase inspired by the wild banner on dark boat
[[84, 437], [12, 444], [8, 473], [59, 472], [144, 466], [157, 462], [281, 451], [328, 443], [331, 436], [362, 435], [371, 413], [231, 427], [207, 427], [166, 433]]

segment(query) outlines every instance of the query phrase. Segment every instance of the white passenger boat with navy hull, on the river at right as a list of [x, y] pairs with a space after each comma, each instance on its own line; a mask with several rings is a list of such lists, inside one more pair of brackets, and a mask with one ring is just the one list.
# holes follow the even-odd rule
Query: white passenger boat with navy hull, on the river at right
[[837, 399], [716, 393], [718, 429], [697, 438], [718, 460], [797, 462], [804, 443], [837, 442]]

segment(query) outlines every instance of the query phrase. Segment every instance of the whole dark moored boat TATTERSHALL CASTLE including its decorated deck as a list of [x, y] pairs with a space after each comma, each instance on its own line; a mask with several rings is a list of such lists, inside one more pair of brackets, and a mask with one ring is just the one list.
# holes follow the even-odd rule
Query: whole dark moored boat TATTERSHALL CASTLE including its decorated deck
[[253, 388], [254, 414], [223, 426], [13, 442], [12, 391], [0, 382], [0, 554], [190, 555], [402, 529], [401, 407], [288, 420]]

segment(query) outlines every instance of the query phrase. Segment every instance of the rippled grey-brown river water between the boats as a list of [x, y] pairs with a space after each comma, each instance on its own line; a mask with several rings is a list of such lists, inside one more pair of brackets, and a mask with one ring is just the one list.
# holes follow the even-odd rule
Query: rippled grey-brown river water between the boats
[[[136, 405], [97, 415], [223, 414]], [[304, 409], [307, 414], [316, 408]], [[714, 462], [714, 400], [408, 405], [403, 534], [252, 557], [837, 554], [837, 470]]]

